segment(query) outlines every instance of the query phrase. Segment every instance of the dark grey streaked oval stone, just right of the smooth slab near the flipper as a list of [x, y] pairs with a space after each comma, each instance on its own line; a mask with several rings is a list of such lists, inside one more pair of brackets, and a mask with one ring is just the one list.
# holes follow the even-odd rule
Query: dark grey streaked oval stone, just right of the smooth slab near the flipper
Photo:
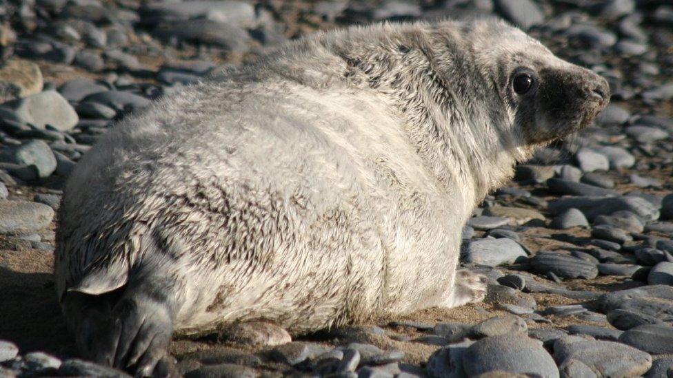
[[531, 258], [530, 266], [536, 272], [543, 274], [551, 272], [563, 278], [585, 278], [590, 280], [595, 278], [599, 273], [596, 265], [591, 262], [545, 251], [540, 251]]

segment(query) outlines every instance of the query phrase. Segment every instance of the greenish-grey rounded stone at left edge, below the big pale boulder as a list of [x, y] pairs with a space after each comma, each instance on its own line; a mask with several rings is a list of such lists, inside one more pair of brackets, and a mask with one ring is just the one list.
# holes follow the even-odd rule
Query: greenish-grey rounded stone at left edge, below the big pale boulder
[[0, 150], [0, 162], [32, 167], [35, 178], [46, 178], [56, 170], [52, 149], [42, 140], [29, 140], [19, 146]]

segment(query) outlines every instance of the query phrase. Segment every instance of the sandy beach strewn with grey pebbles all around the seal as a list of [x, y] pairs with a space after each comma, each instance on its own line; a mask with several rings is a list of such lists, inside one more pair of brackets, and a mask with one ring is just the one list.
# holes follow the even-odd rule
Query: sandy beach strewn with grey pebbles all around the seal
[[178, 337], [172, 374], [673, 377], [669, 0], [1, 3], [0, 377], [123, 376], [74, 358], [51, 276], [63, 182], [114, 120], [314, 30], [475, 14], [520, 25], [613, 93], [465, 227], [461, 264], [489, 277], [485, 302], [290, 344], [269, 324]]

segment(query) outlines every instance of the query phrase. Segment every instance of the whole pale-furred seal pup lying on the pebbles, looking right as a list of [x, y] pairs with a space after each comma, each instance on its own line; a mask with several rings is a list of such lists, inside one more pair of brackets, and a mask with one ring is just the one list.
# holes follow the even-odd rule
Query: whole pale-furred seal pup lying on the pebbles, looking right
[[66, 185], [54, 269], [77, 345], [148, 375], [174, 331], [479, 301], [458, 269], [475, 205], [609, 96], [492, 20], [321, 33], [167, 95]]

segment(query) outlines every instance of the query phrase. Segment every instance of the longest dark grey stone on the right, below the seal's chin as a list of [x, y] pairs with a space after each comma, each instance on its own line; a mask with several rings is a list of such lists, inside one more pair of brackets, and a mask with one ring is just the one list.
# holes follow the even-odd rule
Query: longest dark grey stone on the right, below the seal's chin
[[594, 220], [597, 216], [609, 216], [622, 210], [631, 211], [645, 220], [659, 218], [659, 209], [647, 200], [635, 196], [559, 198], [550, 202], [548, 207], [549, 211], [554, 214], [570, 208], [579, 209], [588, 220]]

